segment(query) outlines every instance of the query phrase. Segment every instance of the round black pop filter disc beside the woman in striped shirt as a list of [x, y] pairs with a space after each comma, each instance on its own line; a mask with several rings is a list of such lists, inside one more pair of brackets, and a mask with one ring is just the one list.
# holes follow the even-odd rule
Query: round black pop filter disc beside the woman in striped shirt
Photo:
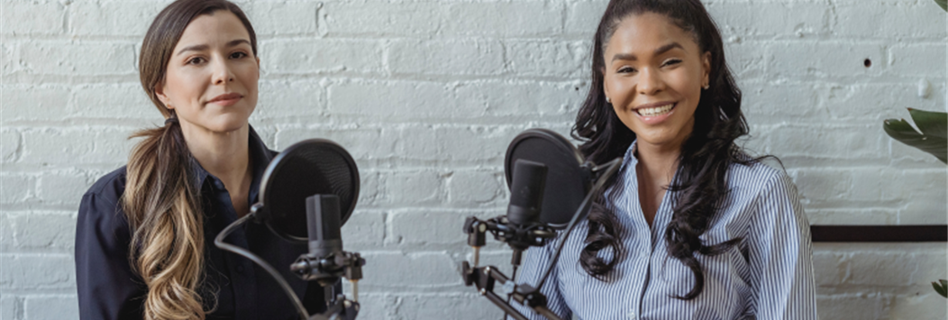
[[556, 132], [523, 131], [510, 142], [503, 161], [508, 188], [515, 164], [521, 159], [540, 162], [548, 168], [539, 221], [555, 229], [566, 228], [592, 187], [590, 174], [583, 169], [583, 156], [573, 143]]

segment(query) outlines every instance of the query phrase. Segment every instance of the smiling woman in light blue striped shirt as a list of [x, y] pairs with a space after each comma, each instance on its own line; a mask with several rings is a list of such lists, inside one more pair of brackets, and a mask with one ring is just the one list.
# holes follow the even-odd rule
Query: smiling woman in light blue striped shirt
[[[611, 0], [592, 58], [574, 138], [587, 159], [623, 164], [541, 288], [550, 309], [815, 319], [809, 223], [786, 173], [735, 144], [740, 90], [702, 3]], [[537, 283], [553, 250], [529, 250], [520, 281]]]

